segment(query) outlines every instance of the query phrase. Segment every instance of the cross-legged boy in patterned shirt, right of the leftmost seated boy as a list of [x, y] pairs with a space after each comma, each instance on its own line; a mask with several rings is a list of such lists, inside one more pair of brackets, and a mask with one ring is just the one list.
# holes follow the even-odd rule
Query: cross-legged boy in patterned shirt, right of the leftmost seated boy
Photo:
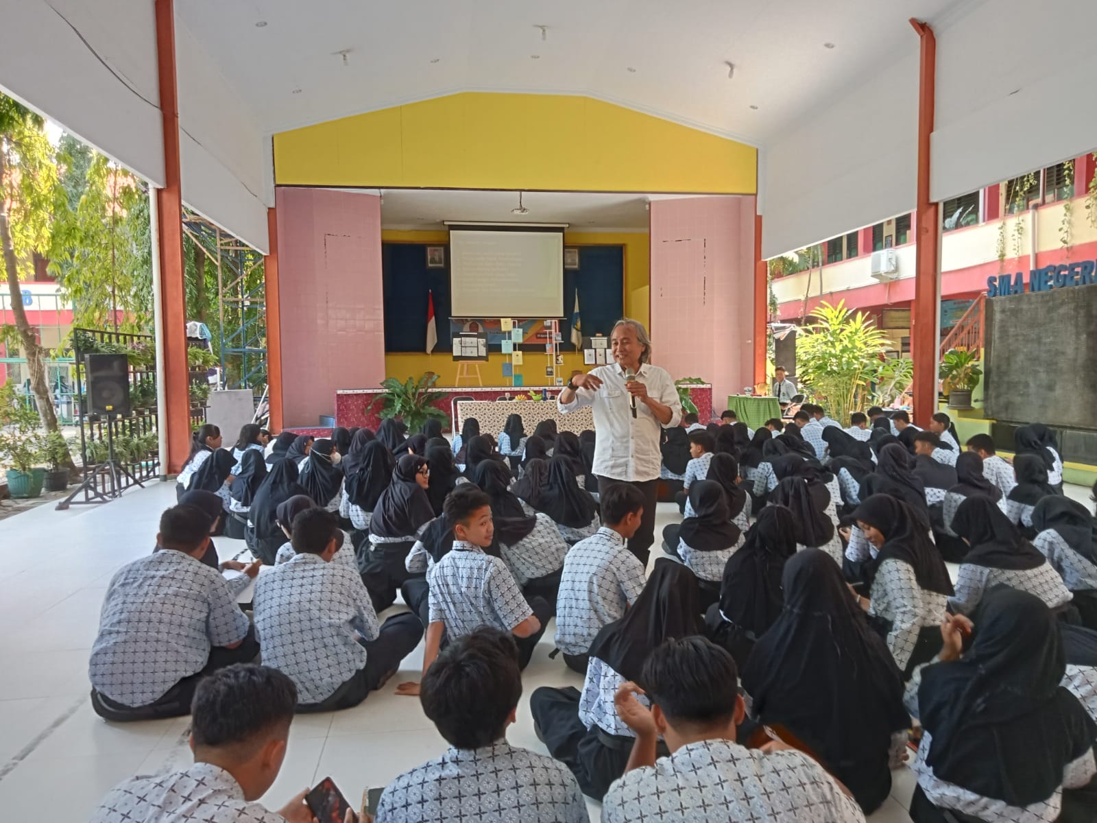
[[256, 584], [263, 663], [293, 678], [301, 712], [358, 706], [422, 638], [411, 613], [378, 625], [362, 578], [331, 562], [342, 541], [332, 512], [305, 509], [293, 518], [295, 555]]

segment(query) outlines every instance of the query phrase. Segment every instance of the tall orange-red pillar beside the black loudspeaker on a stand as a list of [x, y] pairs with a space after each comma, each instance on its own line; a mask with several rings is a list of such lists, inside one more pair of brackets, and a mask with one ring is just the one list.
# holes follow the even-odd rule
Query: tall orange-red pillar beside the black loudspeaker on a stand
[[163, 188], [157, 189], [160, 244], [160, 295], [163, 340], [167, 474], [176, 474], [190, 453], [191, 404], [188, 396], [186, 301], [183, 292], [183, 200], [179, 171], [179, 97], [176, 86], [176, 10], [173, 0], [156, 0], [156, 61], [163, 127]]

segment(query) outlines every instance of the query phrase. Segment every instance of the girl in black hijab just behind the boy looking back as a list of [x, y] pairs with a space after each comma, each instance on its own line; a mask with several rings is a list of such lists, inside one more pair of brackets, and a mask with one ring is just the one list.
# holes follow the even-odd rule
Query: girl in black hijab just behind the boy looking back
[[510, 471], [494, 460], [476, 466], [473, 483], [491, 498], [491, 517], [495, 521], [495, 540], [501, 556], [525, 597], [541, 596], [556, 613], [556, 594], [567, 543], [556, 529], [556, 523], [544, 514], [528, 517], [521, 500], [507, 486]]

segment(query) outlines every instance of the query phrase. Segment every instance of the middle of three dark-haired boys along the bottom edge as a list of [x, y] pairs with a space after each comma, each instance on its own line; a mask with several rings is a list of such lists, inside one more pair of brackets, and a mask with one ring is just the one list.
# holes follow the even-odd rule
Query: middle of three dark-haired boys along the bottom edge
[[480, 627], [456, 639], [423, 675], [419, 696], [450, 749], [389, 782], [376, 823], [586, 823], [567, 768], [507, 742], [521, 696], [508, 633]]

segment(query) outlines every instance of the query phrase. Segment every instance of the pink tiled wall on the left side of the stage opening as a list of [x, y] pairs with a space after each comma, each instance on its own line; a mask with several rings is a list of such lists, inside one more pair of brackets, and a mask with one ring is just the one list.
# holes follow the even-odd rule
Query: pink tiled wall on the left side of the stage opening
[[385, 377], [381, 199], [279, 188], [279, 317], [285, 426], [333, 415], [336, 390]]

